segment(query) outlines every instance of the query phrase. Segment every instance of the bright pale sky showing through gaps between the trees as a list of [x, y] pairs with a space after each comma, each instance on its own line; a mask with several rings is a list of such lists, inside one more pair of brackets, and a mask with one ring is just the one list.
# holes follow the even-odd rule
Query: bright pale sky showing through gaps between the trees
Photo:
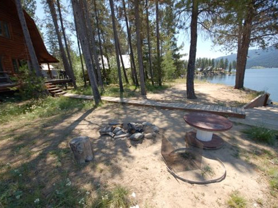
[[[40, 1], [36, 1], [36, 2], [37, 2], [36, 16], [39, 19], [43, 19], [44, 12], [42, 9], [42, 5], [40, 4]], [[209, 38], [204, 38], [201, 35], [198, 35], [197, 38], [198, 39], [197, 39], [196, 58], [214, 59], [214, 58], [228, 55], [225, 53], [225, 51], [221, 51], [221, 48], [219, 46], [213, 46], [213, 43]], [[75, 43], [76, 43], [76, 40], [74, 40], [74, 39], [72, 39], [72, 40], [75, 41]], [[185, 34], [184, 32], [180, 31], [179, 34], [177, 35], [177, 45], [180, 46], [182, 43], [184, 44], [184, 46], [180, 50], [180, 53], [187, 54], [187, 56], [184, 56], [182, 59], [188, 60], [189, 59], [189, 49], [190, 49], [190, 37], [188, 37], [188, 35]], [[77, 47], [77, 43], [75, 45]]]

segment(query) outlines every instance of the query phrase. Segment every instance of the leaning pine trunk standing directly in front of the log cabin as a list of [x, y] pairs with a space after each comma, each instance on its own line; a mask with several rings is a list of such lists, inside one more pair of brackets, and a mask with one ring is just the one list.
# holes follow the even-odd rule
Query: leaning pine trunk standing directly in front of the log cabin
[[29, 55], [30, 55], [30, 58], [31, 58], [32, 67], [35, 70], [36, 76], [37, 77], [42, 77], [42, 73], [39, 69], [39, 64], [38, 64], [38, 61], [37, 61], [35, 49], [33, 47], [33, 43], [32, 43], [29, 31], [28, 31], [28, 27], [27, 27], [27, 24], [26, 24], [26, 20], [25, 20], [25, 17], [24, 17], [21, 1], [16, 0], [15, 4], [16, 4], [16, 9], [17, 9], [17, 14], [18, 14], [19, 20], [20, 20], [20, 24], [21, 24], [21, 27], [22, 27], [24, 39], [25, 39], [25, 42], [27, 44], [27, 48], [28, 48]]

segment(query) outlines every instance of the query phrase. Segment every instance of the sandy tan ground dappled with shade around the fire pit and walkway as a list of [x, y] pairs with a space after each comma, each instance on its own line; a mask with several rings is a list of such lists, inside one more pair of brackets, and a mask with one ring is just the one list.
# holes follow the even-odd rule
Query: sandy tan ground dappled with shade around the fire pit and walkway
[[[183, 100], [185, 91], [180, 86], [165, 90], [165, 94], [150, 94], [148, 98], [163, 100]], [[235, 91], [223, 85], [197, 84], [198, 101], [202, 103], [236, 103], [242, 102], [246, 92]], [[182, 96], [181, 96], [182, 95]], [[185, 99], [184, 99], [185, 100]], [[59, 180], [51, 170], [56, 169], [55, 159], [37, 158], [38, 154], [48, 154], [53, 149], [69, 149], [69, 141], [79, 135], [89, 136], [95, 152], [95, 162], [76, 168], [69, 151], [61, 161], [71, 181], [91, 191], [95, 196], [98, 187], [109, 187], [121, 184], [131, 192], [135, 192], [135, 203], [140, 207], [227, 207], [226, 201], [232, 191], [239, 191], [248, 201], [248, 207], [275, 207], [277, 201], [269, 194], [269, 185], [263, 173], [256, 169], [249, 160], [239, 157], [239, 150], [257, 151], [268, 149], [269, 146], [257, 144], [249, 140], [241, 131], [248, 128], [234, 123], [229, 131], [217, 133], [224, 139], [224, 145], [217, 150], [204, 150], [204, 155], [219, 158], [225, 165], [226, 178], [219, 183], [194, 185], [176, 180], [167, 172], [160, 153], [161, 140], [164, 136], [174, 148], [185, 145], [184, 136], [192, 128], [187, 125], [184, 111], [162, 110], [158, 108], [124, 106], [106, 104], [98, 109], [81, 112], [68, 112], [63, 120], [54, 120], [41, 127], [38, 121], [20, 129], [14, 134], [21, 135], [28, 131], [42, 128], [38, 133], [30, 151], [31, 159], [11, 157], [9, 154], [15, 145], [23, 141], [5, 140], [1, 142], [1, 161], [9, 161], [13, 166], [20, 166], [22, 160], [34, 163], [36, 173], [34, 180], [49, 180], [51, 186]], [[109, 136], [100, 136], [99, 130], [109, 122], [144, 122], [148, 121], [160, 128], [160, 135], [154, 140], [144, 139], [142, 143], [127, 145], [127, 139], [113, 140]], [[9, 124], [7, 124], [8, 126]], [[4, 126], [5, 129], [5, 126]], [[274, 149], [275, 150], [275, 149]], [[49, 187], [46, 187], [49, 188]], [[262, 201], [263, 205], [257, 203]]]

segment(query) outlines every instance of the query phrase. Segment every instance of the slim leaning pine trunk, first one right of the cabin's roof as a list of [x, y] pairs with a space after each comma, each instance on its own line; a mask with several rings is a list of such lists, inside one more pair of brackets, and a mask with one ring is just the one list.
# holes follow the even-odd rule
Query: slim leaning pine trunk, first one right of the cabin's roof
[[53, 20], [53, 24], [54, 24], [54, 27], [55, 27], [56, 35], [57, 35], [57, 38], [58, 38], [59, 48], [60, 48], [60, 52], [61, 52], [61, 56], [62, 56], [65, 71], [66, 71], [67, 75], [71, 78], [73, 86], [76, 87], [74, 74], [73, 74], [73, 71], [70, 69], [69, 62], [68, 62], [68, 59], [67, 59], [67, 56], [66, 56], [66, 53], [65, 53], [65, 49], [64, 49], [64, 46], [63, 46], [63, 43], [62, 43], [62, 38], [61, 38], [61, 35], [60, 35], [60, 30], [59, 30], [59, 26], [58, 26], [58, 20], [57, 20], [57, 14], [56, 14], [56, 9], [55, 9], [54, 2], [53, 2], [53, 0], [47, 0], [47, 3], [49, 5], [50, 13], [51, 13], [51, 16], [52, 16], [52, 20]]

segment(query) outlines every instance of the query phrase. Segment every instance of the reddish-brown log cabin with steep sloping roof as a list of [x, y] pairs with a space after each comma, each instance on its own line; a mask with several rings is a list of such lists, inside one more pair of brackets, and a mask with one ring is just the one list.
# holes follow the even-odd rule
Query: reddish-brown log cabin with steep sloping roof
[[[59, 62], [45, 47], [34, 20], [24, 17], [39, 64]], [[0, 1], [0, 92], [16, 86], [10, 77], [20, 76], [19, 68], [30, 60], [14, 0]]]

